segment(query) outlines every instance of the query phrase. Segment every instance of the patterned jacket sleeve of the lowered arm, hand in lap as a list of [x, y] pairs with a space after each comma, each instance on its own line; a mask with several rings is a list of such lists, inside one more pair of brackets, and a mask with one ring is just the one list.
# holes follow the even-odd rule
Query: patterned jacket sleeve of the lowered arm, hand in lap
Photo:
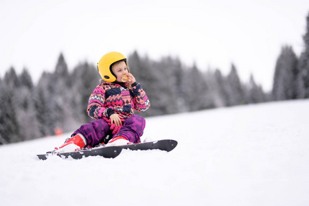
[[90, 95], [87, 113], [93, 119], [100, 119], [102, 117], [109, 117], [108, 114], [111, 113], [111, 110], [113, 108], [105, 106], [105, 91], [102, 84], [99, 84]]

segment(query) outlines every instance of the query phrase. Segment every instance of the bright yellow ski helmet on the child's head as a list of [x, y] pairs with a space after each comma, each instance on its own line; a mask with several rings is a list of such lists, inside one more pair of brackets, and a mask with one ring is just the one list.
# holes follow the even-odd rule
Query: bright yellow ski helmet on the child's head
[[[109, 52], [105, 54], [104, 56], [102, 56], [102, 58], [98, 62], [97, 67], [98, 67], [100, 76], [102, 77], [104, 81], [115, 82], [117, 77], [113, 73], [112, 65], [115, 62], [119, 62], [121, 60], [124, 60], [124, 62], [126, 62], [126, 56], [124, 56], [123, 54], [119, 52]], [[126, 67], [128, 67], [127, 62], [126, 62]], [[128, 69], [128, 72], [130, 72], [129, 69]]]

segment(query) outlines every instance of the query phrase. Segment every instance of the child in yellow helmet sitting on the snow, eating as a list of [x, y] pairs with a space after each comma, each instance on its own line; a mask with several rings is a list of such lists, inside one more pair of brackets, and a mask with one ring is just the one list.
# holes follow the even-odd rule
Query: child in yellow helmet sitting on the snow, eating
[[126, 57], [118, 52], [105, 54], [98, 62], [98, 71], [103, 80], [91, 93], [87, 108], [88, 115], [96, 120], [80, 126], [65, 144], [55, 148], [56, 152], [71, 152], [97, 144], [119, 146], [140, 141], [145, 119], [134, 115], [134, 110], [146, 111], [150, 102], [141, 84], [130, 73]]

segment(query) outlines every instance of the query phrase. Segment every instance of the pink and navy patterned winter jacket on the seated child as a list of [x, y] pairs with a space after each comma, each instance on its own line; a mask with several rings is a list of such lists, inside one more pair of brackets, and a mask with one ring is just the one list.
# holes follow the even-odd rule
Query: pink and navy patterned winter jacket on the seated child
[[134, 110], [144, 112], [150, 102], [141, 84], [133, 83], [128, 89], [127, 83], [101, 82], [91, 93], [87, 108], [93, 119], [109, 118], [113, 113], [126, 119], [134, 115]]

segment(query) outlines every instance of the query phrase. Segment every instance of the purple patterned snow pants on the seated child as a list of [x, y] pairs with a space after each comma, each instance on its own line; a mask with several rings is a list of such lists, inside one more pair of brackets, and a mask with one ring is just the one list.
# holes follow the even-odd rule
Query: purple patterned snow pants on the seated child
[[[113, 135], [113, 137], [122, 136], [126, 137], [128, 141], [133, 143], [139, 143], [141, 135], [144, 133], [146, 121], [144, 117], [139, 115], [133, 115], [124, 121], [122, 128], [120, 128], [119, 133]], [[109, 139], [106, 139], [107, 135], [111, 135], [111, 130], [104, 119], [96, 119], [87, 124], [83, 124], [76, 130], [73, 135], [82, 134], [87, 139], [87, 146], [95, 146], [100, 142], [106, 144]]]

